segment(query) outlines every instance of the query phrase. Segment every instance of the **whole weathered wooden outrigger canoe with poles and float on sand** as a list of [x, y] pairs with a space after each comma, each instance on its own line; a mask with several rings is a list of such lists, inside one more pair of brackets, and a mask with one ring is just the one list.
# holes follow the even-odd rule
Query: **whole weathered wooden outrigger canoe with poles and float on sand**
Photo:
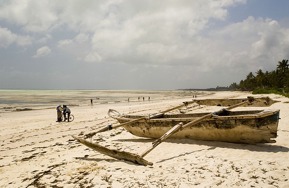
[[[243, 99], [242, 99], [243, 100]], [[71, 135], [79, 143], [110, 157], [134, 162], [139, 165], [153, 165], [143, 159], [150, 151], [162, 143], [166, 138], [190, 138], [197, 140], [212, 140], [234, 143], [275, 143], [270, 138], [277, 137], [279, 110], [255, 110], [255, 111], [230, 111], [236, 107], [256, 103], [259, 106], [270, 106], [275, 102], [267, 97], [248, 97], [247, 101], [222, 108], [212, 113], [165, 115], [164, 113], [186, 106], [192, 102], [184, 102], [183, 105], [148, 116], [122, 115], [114, 110], [109, 110], [108, 115], [121, 122], [117, 126], [108, 126], [97, 132], [87, 134], [89, 138], [98, 132], [111, 130], [123, 126], [131, 134], [147, 138], [158, 138], [152, 146], [141, 155], [109, 149], [99, 144], [89, 142]], [[131, 124], [131, 125], [130, 125]], [[176, 125], [177, 124], [177, 125]], [[130, 126], [129, 126], [130, 125]], [[175, 126], [174, 126], [175, 125]], [[182, 131], [186, 129], [186, 131]]]

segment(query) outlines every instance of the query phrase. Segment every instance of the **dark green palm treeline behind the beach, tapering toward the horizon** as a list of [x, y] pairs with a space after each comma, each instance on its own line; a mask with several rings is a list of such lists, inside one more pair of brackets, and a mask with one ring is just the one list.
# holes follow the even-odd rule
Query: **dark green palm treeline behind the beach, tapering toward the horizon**
[[277, 68], [271, 72], [263, 72], [259, 69], [256, 76], [250, 72], [246, 79], [240, 83], [231, 83], [227, 87], [208, 89], [177, 89], [177, 90], [201, 90], [201, 91], [253, 91], [266, 88], [281, 88], [285, 93], [289, 93], [289, 69], [288, 60], [278, 61]]

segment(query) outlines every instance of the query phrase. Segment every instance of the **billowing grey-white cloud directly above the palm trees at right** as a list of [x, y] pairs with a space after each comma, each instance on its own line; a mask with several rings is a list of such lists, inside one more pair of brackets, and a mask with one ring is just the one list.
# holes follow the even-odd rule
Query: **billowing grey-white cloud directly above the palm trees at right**
[[[221, 58], [223, 61], [228, 63], [232, 59], [242, 57], [236, 62], [244, 66], [244, 70], [247, 66], [257, 68], [261, 65], [270, 70], [272, 57], [278, 56], [283, 59], [289, 55], [286, 50], [289, 46], [289, 30], [281, 28], [277, 21], [268, 18], [264, 20], [249, 16], [242, 22], [212, 32], [210, 37], [214, 39], [214, 44], [219, 46], [215, 52], [223, 56]], [[222, 55], [224, 51], [229, 51], [231, 54]], [[281, 57], [280, 54], [283, 56]]]

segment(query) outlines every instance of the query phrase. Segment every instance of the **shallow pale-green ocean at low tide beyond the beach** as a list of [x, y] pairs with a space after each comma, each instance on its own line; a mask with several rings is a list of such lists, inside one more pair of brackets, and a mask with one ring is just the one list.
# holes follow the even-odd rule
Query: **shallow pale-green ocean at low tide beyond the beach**
[[[203, 95], [208, 92], [202, 91], [181, 91], [181, 90], [0, 90], [0, 112], [16, 109], [43, 109], [55, 108], [58, 105], [90, 105], [90, 98], [93, 104], [117, 103], [140, 101], [142, 97], [147, 101], [158, 99], [173, 99], [188, 97], [192, 95]], [[97, 99], [99, 98], [99, 99]]]

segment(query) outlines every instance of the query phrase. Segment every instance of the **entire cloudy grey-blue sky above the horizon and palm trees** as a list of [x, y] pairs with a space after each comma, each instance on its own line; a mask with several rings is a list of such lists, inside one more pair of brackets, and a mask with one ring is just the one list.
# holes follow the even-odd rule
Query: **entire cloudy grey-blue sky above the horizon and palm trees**
[[289, 59], [288, 0], [0, 1], [0, 88], [175, 90]]

